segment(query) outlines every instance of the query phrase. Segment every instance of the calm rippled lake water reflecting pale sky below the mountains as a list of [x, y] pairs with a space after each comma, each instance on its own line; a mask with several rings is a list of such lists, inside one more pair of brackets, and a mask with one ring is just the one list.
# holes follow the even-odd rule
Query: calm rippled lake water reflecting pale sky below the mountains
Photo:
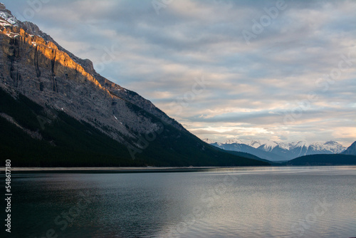
[[27, 173], [12, 185], [10, 237], [356, 237], [356, 167]]

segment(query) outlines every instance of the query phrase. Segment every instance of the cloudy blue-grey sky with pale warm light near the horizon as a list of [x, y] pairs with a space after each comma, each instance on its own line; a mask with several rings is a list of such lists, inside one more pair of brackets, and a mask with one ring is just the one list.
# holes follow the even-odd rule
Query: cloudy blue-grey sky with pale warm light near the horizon
[[356, 140], [356, 1], [1, 1], [201, 139]]

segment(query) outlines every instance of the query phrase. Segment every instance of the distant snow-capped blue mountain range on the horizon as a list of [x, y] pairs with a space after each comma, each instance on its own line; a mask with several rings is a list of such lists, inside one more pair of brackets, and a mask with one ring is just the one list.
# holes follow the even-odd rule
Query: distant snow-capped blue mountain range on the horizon
[[315, 154], [339, 154], [346, 148], [336, 141], [295, 141], [290, 143], [276, 142], [272, 140], [226, 140], [223, 143], [204, 139], [206, 143], [224, 150], [248, 152], [262, 159], [271, 161], [292, 160], [303, 155]]

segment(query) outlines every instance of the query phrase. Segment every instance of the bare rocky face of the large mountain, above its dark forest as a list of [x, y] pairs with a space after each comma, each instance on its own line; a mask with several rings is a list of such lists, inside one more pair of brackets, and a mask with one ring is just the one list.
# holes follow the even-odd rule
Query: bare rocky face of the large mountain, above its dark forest
[[5, 17], [0, 18], [2, 88], [63, 110], [122, 143], [124, 137], [137, 138], [147, 130], [159, 130], [157, 121], [146, 113], [185, 131], [149, 100], [100, 76], [91, 61], [73, 56], [36, 25], [17, 20], [11, 24], [6, 21], [11, 12], [4, 7], [0, 11]]

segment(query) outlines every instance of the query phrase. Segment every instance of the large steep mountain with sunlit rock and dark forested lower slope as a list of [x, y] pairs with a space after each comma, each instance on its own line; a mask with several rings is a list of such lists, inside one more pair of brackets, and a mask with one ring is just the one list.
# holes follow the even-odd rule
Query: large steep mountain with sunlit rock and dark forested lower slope
[[16, 167], [269, 165], [202, 142], [4, 4], [0, 152]]

